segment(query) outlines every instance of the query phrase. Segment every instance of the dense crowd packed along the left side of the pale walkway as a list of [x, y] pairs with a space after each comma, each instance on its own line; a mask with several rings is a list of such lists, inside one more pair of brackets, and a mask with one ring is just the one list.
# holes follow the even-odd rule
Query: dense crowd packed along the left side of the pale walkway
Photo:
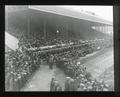
[[40, 67], [39, 55], [26, 55], [20, 50], [9, 53], [8, 63], [5, 64], [6, 90], [19, 91]]

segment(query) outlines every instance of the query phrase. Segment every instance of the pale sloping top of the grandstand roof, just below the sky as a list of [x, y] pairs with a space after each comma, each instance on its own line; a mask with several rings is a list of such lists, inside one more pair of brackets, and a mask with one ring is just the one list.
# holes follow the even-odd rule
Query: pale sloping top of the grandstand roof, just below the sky
[[28, 6], [29, 9], [50, 12], [58, 15], [69, 16], [77, 19], [88, 20], [91, 22], [102, 23], [106, 25], [113, 25], [112, 22], [102, 19], [94, 14], [86, 14], [83, 12], [76, 12], [73, 10], [65, 9], [59, 6]]

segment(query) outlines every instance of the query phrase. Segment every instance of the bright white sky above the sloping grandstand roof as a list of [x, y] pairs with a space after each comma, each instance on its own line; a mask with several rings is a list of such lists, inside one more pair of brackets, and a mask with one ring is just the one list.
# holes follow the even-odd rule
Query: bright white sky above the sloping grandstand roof
[[94, 12], [99, 17], [113, 22], [113, 6], [82, 6], [82, 5], [69, 6], [68, 5], [68, 6], [59, 6], [59, 7], [64, 7], [69, 10], [74, 10], [78, 12], [81, 12], [81, 10]]

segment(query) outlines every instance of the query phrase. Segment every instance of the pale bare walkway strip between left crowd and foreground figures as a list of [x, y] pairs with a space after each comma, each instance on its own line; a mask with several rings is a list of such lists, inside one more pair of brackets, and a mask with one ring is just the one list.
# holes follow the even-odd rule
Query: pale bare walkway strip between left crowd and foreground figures
[[54, 70], [50, 70], [47, 65], [41, 65], [40, 69], [31, 78], [28, 84], [21, 91], [49, 91], [51, 78]]

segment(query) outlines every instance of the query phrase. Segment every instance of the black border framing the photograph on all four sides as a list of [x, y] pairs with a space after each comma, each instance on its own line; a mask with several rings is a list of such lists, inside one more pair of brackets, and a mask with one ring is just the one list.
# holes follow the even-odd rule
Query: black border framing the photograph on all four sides
[[[13, 0], [12, 0], [13, 1]], [[109, 2], [108, 2], [109, 1]], [[113, 2], [115, 1], [115, 2]], [[54, 2], [54, 1], [53, 1]], [[1, 56], [1, 70], [0, 70], [0, 74], [1, 74], [1, 87], [2, 87], [2, 93], [5, 94], [5, 95], [8, 95], [10, 96], [10, 94], [28, 94], [29, 95], [32, 95], [32, 96], [37, 96], [38, 94], [42, 94], [42, 93], [45, 93], [47, 95], [50, 95], [50, 96], [97, 96], [97, 95], [112, 95], [114, 96], [115, 95], [118, 95], [119, 92], [120, 92], [120, 6], [119, 6], [119, 1], [117, 0], [101, 0], [101, 1], [86, 1], [86, 0], [83, 0], [83, 1], [79, 1], [79, 2], [74, 2], [74, 1], [70, 1], [70, 2], [66, 2], [66, 1], [55, 1], [54, 3], [53, 2], [43, 2], [43, 1], [39, 1], [39, 2], [21, 2], [21, 1], [14, 1], [14, 2], [2, 2], [2, 4], [0, 5], [0, 14], [2, 15], [1, 18], [0, 18], [0, 21], [2, 21], [2, 25], [0, 25], [0, 32], [1, 32], [1, 35], [0, 35], [0, 39], [1, 39], [1, 53], [2, 53], [2, 56]], [[115, 91], [114, 92], [108, 92], [108, 93], [105, 93], [105, 92], [64, 92], [64, 93], [61, 93], [61, 92], [53, 92], [53, 93], [49, 93], [49, 92], [5, 92], [5, 86], [4, 86], [4, 80], [5, 80], [5, 67], [4, 67], [4, 63], [5, 63], [5, 55], [4, 55], [4, 52], [5, 52], [5, 5], [111, 5], [113, 6], [113, 29], [114, 29], [114, 76], [115, 76]], [[101, 94], [102, 93], [102, 94]], [[17, 96], [18, 96], [17, 95]], [[19, 95], [20, 96], [20, 95]], [[22, 95], [21, 95], [22, 96]], [[27, 96], [27, 95], [26, 95]]]

